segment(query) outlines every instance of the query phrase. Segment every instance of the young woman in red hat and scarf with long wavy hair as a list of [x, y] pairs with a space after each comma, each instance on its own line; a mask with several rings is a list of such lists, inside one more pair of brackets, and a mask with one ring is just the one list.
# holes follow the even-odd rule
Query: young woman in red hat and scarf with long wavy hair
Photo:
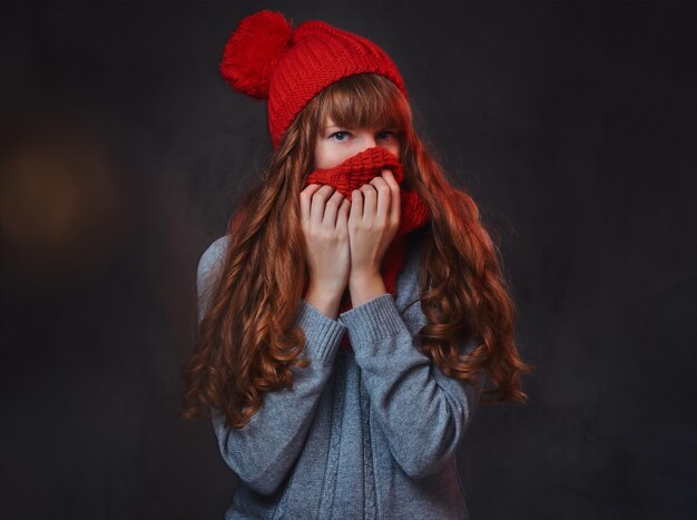
[[226, 519], [467, 518], [457, 448], [530, 371], [475, 204], [372, 41], [264, 10], [220, 71], [267, 99], [274, 147], [200, 258], [185, 367], [184, 416], [210, 411], [240, 480]]

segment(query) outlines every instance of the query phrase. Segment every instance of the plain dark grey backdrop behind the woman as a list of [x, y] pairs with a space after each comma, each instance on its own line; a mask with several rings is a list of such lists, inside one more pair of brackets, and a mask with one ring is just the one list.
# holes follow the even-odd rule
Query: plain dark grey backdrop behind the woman
[[694, 6], [347, 1], [0, 7], [2, 517], [228, 506], [178, 371], [198, 258], [271, 153], [217, 73], [265, 7], [393, 57], [500, 243], [537, 370], [464, 438], [472, 518], [696, 518]]

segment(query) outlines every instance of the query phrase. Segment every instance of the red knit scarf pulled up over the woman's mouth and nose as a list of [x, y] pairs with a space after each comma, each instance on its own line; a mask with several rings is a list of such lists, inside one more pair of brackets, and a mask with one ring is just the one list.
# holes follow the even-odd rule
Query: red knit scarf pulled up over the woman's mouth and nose
[[[412, 229], [422, 227], [431, 218], [429, 207], [421, 196], [412, 189], [405, 189], [404, 173], [400, 160], [382, 147], [367, 148], [333, 168], [315, 169], [305, 179], [305, 186], [327, 184], [334, 186], [351, 200], [351, 193], [354, 189], [360, 189], [364, 184], [370, 184], [374, 177], [381, 176], [382, 170], [385, 168], [392, 170], [395, 180], [401, 187], [400, 227], [385, 252], [381, 266], [385, 288], [396, 297], [396, 277], [402, 271], [406, 257], [405, 235]], [[306, 294], [307, 286], [308, 283], [305, 283], [303, 295]], [[344, 313], [350, 308], [353, 308], [353, 305], [348, 290], [346, 290], [338, 313]], [[351, 349], [347, 334], [344, 335], [340, 347]]]

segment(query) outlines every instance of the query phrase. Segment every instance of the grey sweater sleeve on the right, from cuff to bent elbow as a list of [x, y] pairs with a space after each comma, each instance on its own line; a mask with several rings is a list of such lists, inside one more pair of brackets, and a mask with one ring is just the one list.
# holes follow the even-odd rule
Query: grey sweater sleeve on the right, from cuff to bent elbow
[[353, 307], [340, 320], [395, 461], [413, 479], [435, 473], [455, 454], [481, 383], [448, 377], [433, 365], [416, 349], [392, 294]]

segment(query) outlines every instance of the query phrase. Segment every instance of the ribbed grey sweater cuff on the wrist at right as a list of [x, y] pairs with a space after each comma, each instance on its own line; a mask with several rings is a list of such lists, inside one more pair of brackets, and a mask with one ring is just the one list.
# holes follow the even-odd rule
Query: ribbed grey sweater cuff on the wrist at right
[[350, 308], [338, 318], [348, 330], [352, 345], [374, 344], [384, 337], [406, 331], [394, 296], [386, 293]]

